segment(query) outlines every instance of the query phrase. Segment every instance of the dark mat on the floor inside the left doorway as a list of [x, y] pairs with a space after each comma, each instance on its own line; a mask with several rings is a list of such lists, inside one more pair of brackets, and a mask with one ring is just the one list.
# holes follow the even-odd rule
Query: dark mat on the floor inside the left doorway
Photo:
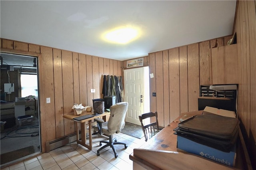
[[13, 160], [22, 158], [24, 156], [28, 156], [30, 154], [33, 154], [34, 152], [35, 152], [34, 146], [28, 146], [28, 147], [25, 147], [25, 148], [14, 150], [12, 152], [7, 152], [7, 153], [4, 153], [4, 154], [1, 154], [0, 155], [1, 165], [5, 164], [7, 162], [11, 162]]

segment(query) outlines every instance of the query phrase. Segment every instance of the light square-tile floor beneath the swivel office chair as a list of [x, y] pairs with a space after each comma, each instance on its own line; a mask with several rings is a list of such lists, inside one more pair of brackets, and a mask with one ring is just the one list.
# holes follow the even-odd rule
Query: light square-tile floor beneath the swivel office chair
[[115, 158], [110, 147], [101, 150], [100, 156], [97, 156], [97, 150], [101, 147], [100, 141], [108, 140], [108, 137], [95, 134], [92, 139], [92, 150], [72, 142], [2, 170], [132, 170], [132, 160], [129, 159], [129, 155], [133, 152], [133, 148], [145, 143], [144, 137], [138, 139], [123, 133], [114, 134], [114, 137], [118, 142], [124, 142], [128, 146], [125, 149], [124, 145], [115, 145], [118, 158]]

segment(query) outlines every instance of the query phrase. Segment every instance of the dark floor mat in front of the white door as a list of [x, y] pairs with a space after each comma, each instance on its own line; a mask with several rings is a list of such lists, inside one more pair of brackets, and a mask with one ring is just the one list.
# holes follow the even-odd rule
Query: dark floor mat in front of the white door
[[144, 133], [142, 131], [141, 126], [138, 125], [134, 125], [131, 123], [125, 123], [124, 128], [122, 129], [121, 133], [127, 134], [129, 136], [133, 136], [136, 138], [143, 138], [144, 137]]

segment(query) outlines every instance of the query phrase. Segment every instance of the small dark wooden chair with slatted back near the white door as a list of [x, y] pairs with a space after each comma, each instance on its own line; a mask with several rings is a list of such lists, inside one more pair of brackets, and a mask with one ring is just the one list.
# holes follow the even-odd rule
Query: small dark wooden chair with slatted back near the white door
[[[143, 125], [143, 120], [146, 119], [146, 118], [150, 118], [150, 117], [155, 117], [156, 121], [153, 122], [153, 123], [150, 123], [148, 125]], [[146, 141], [159, 132], [157, 112], [155, 112], [155, 113], [153, 113], [153, 112], [144, 113], [144, 114], [139, 116], [139, 119], [140, 119], [141, 127], [142, 127], [142, 130], [144, 132], [144, 136], [145, 136]]]

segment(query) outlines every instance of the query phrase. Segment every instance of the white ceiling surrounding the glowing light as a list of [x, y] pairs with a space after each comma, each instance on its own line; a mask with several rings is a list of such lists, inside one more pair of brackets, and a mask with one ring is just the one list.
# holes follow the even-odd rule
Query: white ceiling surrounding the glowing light
[[[0, 1], [1, 38], [117, 59], [232, 34], [236, 1]], [[107, 30], [136, 26], [128, 44], [102, 40]]]

